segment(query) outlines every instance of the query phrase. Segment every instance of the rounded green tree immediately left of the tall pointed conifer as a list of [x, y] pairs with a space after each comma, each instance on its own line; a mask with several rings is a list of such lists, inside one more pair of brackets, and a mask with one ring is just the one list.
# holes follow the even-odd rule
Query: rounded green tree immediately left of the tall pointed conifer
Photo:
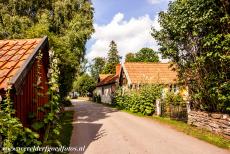
[[94, 79], [99, 77], [99, 74], [102, 73], [102, 70], [105, 66], [105, 59], [102, 57], [96, 57], [93, 59], [93, 63], [90, 66], [90, 73]]

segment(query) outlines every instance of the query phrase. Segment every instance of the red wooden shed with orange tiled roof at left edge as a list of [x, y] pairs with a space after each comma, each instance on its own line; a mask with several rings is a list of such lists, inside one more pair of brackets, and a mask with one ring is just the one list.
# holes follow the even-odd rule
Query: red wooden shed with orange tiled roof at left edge
[[48, 38], [0, 40], [0, 95], [11, 88], [16, 116], [29, 127], [29, 115], [42, 119], [38, 107], [48, 102]]

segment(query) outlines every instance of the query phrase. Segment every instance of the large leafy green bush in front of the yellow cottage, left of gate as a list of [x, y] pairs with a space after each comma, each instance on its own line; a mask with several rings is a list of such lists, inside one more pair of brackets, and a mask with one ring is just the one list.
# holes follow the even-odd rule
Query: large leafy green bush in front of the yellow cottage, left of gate
[[161, 96], [161, 91], [160, 85], [144, 85], [138, 91], [129, 92], [118, 89], [115, 94], [115, 102], [120, 109], [152, 115], [155, 111], [155, 101]]

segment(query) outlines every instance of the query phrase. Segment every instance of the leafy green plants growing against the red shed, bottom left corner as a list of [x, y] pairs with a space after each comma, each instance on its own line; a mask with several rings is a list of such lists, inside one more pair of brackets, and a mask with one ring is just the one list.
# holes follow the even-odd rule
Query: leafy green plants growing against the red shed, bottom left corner
[[[39, 134], [29, 128], [23, 127], [20, 120], [14, 116], [15, 110], [13, 109], [13, 102], [10, 99], [10, 88], [6, 93], [5, 99], [1, 102], [0, 107], [0, 135], [4, 148], [32, 147], [42, 144], [42, 142], [39, 141]], [[2, 152], [9, 153], [10, 151], [7, 150], [8, 149]], [[17, 152], [23, 153], [23, 151]]]

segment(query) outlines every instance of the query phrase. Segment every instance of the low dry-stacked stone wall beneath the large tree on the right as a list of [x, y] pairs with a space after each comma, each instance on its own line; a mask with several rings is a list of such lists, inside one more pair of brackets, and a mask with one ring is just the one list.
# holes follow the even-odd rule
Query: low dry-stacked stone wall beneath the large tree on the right
[[230, 137], [230, 116], [228, 114], [190, 111], [188, 124]]

